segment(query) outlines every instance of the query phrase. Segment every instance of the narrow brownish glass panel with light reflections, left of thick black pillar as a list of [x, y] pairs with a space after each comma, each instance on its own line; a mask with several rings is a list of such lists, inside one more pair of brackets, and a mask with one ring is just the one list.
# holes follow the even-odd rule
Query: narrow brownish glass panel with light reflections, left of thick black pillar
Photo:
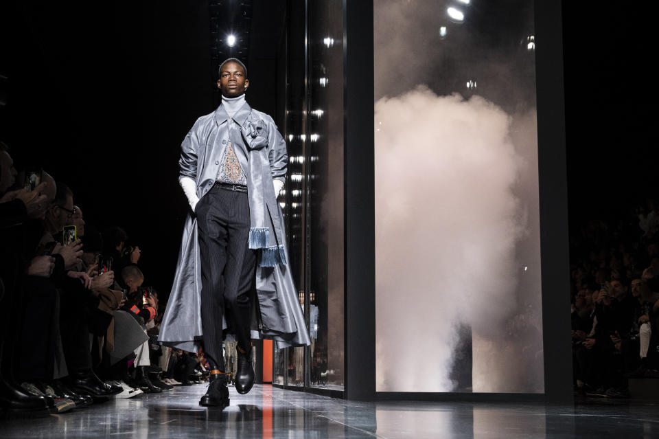
[[308, 2], [309, 385], [343, 390], [343, 2]]

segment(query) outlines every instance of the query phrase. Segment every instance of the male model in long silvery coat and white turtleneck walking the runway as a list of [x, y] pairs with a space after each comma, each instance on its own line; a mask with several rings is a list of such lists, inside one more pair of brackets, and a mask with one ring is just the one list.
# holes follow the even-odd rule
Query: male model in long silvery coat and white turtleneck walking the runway
[[[179, 183], [190, 214], [159, 341], [196, 352], [202, 338], [211, 384], [199, 404], [225, 407], [225, 328], [238, 342], [240, 394], [254, 382], [252, 335], [275, 339], [280, 348], [305, 346], [310, 338], [287, 266], [277, 203], [286, 179], [286, 142], [272, 117], [247, 104], [245, 65], [229, 58], [218, 73], [222, 104], [200, 117], [181, 144]], [[192, 303], [200, 309], [181, 306]]]

